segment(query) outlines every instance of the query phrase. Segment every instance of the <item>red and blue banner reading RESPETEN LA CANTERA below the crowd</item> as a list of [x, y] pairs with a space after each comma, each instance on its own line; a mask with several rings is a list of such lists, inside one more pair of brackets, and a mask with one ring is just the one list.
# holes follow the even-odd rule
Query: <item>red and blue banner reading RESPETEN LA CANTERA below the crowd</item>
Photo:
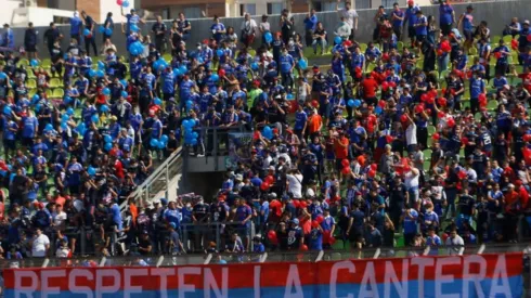
[[[7, 269], [5, 297], [521, 297], [522, 252]], [[452, 296], [454, 295], [454, 296]]]

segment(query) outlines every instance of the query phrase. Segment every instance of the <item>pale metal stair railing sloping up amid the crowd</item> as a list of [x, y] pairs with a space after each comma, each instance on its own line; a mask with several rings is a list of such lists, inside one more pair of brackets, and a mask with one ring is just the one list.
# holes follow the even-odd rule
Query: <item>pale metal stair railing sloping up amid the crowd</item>
[[[182, 173], [182, 147], [179, 147], [166, 160], [160, 164], [147, 179], [129, 195], [134, 197], [137, 203], [141, 205], [155, 198], [154, 196], [160, 192], [165, 192], [165, 197], [168, 196], [168, 185], [171, 179], [177, 174]], [[121, 203], [120, 210], [124, 211], [127, 207], [128, 199]]]

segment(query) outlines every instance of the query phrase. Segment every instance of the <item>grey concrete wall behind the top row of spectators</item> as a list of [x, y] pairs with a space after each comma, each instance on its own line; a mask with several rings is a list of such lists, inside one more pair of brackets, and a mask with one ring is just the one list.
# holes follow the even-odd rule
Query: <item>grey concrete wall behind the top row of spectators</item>
[[[131, 1], [132, 2], [132, 1]], [[464, 4], [455, 4], [454, 9], [456, 11], [456, 15], [461, 15], [464, 11], [465, 8], [467, 7], [467, 3]], [[431, 7], [423, 7], [422, 10], [425, 15], [435, 15], [436, 18], [438, 18], [439, 13], [438, 13], [438, 5], [431, 5]], [[482, 2], [482, 3], [476, 3], [474, 4], [475, 11], [475, 23], [478, 24], [480, 21], [487, 21], [489, 23], [489, 27], [491, 28], [491, 35], [501, 35], [502, 30], [505, 28], [506, 24], [510, 22], [510, 18], [513, 16], [517, 16], [519, 20], [523, 21], [524, 18], [529, 17], [529, 11], [531, 9], [531, 1], [530, 0], [518, 0], [518, 1], [495, 1], [495, 2]], [[360, 21], [359, 21], [359, 31], [358, 31], [358, 39], [367, 42], [370, 41], [372, 37], [372, 33], [374, 29], [374, 22], [373, 22], [373, 16], [375, 14], [375, 10], [359, 10], [358, 11], [360, 15]], [[296, 22], [296, 30], [300, 34], [303, 31], [303, 20], [306, 17], [306, 14], [295, 14], [295, 22]], [[118, 17], [116, 18], [118, 20]], [[255, 20], [259, 24], [260, 22], [260, 16], [255, 16]], [[272, 24], [272, 29], [273, 30], [279, 30], [279, 15], [273, 15], [270, 16], [270, 23]], [[325, 13], [319, 13], [319, 20], [323, 22], [325, 29], [331, 34], [334, 31], [335, 27], [338, 24], [338, 15], [336, 12], [325, 12]], [[187, 41], [189, 44], [195, 44], [196, 42], [200, 42], [203, 39], [206, 37], [210, 36], [210, 25], [211, 25], [211, 20], [210, 18], [198, 18], [198, 20], [191, 20], [192, 23], [192, 36], [190, 40]], [[236, 28], [236, 33], [239, 34], [239, 26], [242, 24], [242, 18], [241, 17], [228, 17], [228, 18], [222, 18], [222, 23], [225, 26], [233, 26]], [[168, 25], [170, 25], [170, 22], [167, 22]], [[148, 23], [142, 27], [143, 33], [147, 33], [151, 30], [152, 23]], [[117, 46], [118, 50], [121, 53], [126, 52], [126, 38], [125, 36], [121, 35], [119, 30], [119, 25], [116, 26], [116, 31], [113, 36], [113, 42]], [[63, 26], [62, 27], [63, 34], [65, 37], [68, 36], [69, 29], [68, 26]], [[46, 31], [46, 28], [39, 28], [39, 35], [42, 36], [43, 33]], [[24, 28], [15, 28], [15, 40], [16, 44], [20, 46], [23, 43], [24, 40]], [[96, 35], [96, 40], [98, 44], [101, 42], [101, 36], [100, 34]], [[40, 39], [40, 42], [42, 42], [42, 39]], [[66, 43], [68, 42], [68, 39], [65, 38], [63, 40], [64, 46], [66, 47]], [[42, 43], [41, 43], [42, 44]], [[43, 46], [41, 46], [43, 48]], [[42, 51], [42, 55], [46, 54], [46, 51]]]

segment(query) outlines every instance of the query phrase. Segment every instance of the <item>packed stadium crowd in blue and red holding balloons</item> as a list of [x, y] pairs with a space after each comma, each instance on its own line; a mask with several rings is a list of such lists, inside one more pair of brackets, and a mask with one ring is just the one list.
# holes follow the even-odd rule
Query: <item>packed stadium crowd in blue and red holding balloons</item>
[[[194, 29], [183, 14], [142, 31], [145, 21], [130, 10], [128, 53], [113, 44], [112, 14], [98, 25], [81, 12], [66, 49], [50, 24], [42, 60], [31, 25], [17, 51], [5, 25], [3, 258], [72, 257], [81, 243], [104, 256], [401, 246], [455, 254], [527, 235], [529, 21], [511, 20], [494, 36], [472, 7], [457, 14], [442, 0], [436, 24], [410, 0], [405, 10], [378, 9], [364, 43], [357, 12], [339, 4], [336, 28], [315, 11], [296, 24], [284, 10], [279, 31], [267, 15], [257, 24], [246, 14], [238, 36], [215, 16], [197, 44], [186, 43]], [[329, 66], [309, 66], [323, 57]], [[209, 155], [218, 144], [206, 128], [239, 126], [251, 131], [251, 158], [230, 169], [213, 200], [138, 206], [129, 197], [155, 159], [181, 143]]]

